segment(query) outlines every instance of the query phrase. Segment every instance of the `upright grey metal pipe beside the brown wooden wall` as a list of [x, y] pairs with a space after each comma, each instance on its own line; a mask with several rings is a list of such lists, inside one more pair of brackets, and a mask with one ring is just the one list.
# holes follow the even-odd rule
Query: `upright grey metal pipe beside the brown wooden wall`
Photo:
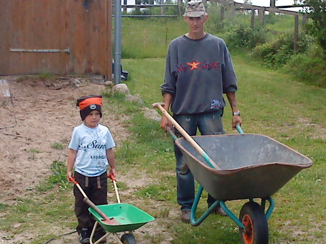
[[114, 53], [114, 83], [121, 81], [121, 0], [115, 4], [115, 53]]

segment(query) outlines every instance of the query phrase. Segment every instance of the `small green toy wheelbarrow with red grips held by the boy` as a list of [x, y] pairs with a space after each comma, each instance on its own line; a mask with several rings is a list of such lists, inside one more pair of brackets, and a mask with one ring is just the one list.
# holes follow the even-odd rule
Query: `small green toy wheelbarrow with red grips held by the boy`
[[[90, 244], [99, 243], [111, 233], [115, 236], [119, 243], [137, 244], [132, 231], [142, 227], [148, 222], [154, 221], [155, 218], [139, 209], [138, 207], [127, 203], [121, 203], [116, 180], [113, 175], [109, 175], [108, 177], [110, 177], [113, 181], [118, 201], [116, 204], [95, 205], [88, 199], [83, 189], [79, 186], [78, 182], [73, 180], [76, 187], [83, 194], [84, 201], [90, 206], [88, 210], [96, 220], [90, 236]], [[107, 231], [107, 233], [93, 242], [93, 236], [98, 224], [100, 224], [100, 226], [105, 231]], [[119, 238], [117, 234], [118, 232], [124, 232], [121, 238]]]

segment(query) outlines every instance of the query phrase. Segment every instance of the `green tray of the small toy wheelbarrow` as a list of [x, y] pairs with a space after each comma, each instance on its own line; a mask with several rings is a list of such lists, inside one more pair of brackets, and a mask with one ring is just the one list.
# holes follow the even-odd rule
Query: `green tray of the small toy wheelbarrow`
[[103, 222], [103, 218], [91, 207], [88, 210], [94, 216], [96, 221], [108, 232], [131, 231], [140, 228], [148, 222], [154, 220], [143, 210], [127, 203], [97, 205], [108, 218], [114, 218], [119, 225], [108, 225]]

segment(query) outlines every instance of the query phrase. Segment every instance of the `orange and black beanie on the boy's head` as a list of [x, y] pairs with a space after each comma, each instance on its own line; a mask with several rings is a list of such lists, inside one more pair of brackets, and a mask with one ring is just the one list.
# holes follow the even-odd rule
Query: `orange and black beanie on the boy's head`
[[77, 106], [79, 107], [80, 117], [82, 120], [86, 118], [86, 116], [92, 112], [93, 110], [97, 110], [100, 112], [102, 117], [102, 96], [101, 95], [90, 95], [83, 96], [77, 99]]

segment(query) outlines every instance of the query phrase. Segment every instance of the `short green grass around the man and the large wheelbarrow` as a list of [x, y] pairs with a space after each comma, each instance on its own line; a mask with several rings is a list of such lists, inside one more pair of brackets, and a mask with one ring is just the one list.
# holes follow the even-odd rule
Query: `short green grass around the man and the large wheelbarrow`
[[[281, 243], [286, 240], [301, 244], [324, 243], [322, 232], [326, 223], [322, 216], [326, 214], [323, 204], [326, 200], [326, 185], [322, 172], [326, 164], [325, 89], [302, 84], [292, 80], [291, 76], [262, 68], [258, 63], [248, 63], [246, 55], [233, 53], [232, 56], [239, 80], [237, 101], [244, 132], [268, 135], [314, 161], [313, 167], [303, 170], [275, 194], [276, 209], [269, 221], [270, 243]], [[162, 83], [164, 68], [155, 74], [151, 73], [150, 78], [147, 78], [143, 76], [145, 71], [140, 71], [139, 67], [151, 67], [153, 64], [155, 66], [161, 64], [164, 67], [165, 59], [123, 60], [123, 66], [130, 71], [132, 77], [128, 82], [130, 92], [140, 94], [148, 104], [161, 101], [159, 85]], [[224, 125], [227, 133], [232, 133], [229, 109], [226, 108]], [[136, 124], [131, 130], [136, 129], [134, 133], [137, 131], [141, 133], [144, 127], [146, 128], [144, 125]], [[152, 134], [155, 135], [155, 131]], [[155, 138], [156, 136], [151, 138], [148, 135], [147, 139], [157, 148], [160, 148], [160, 144], [166, 143], [165, 135], [161, 135], [161, 143], [156, 143]], [[165, 155], [169, 163], [174, 164], [173, 154], [166, 151]], [[159, 159], [156, 162], [161, 164]], [[153, 194], [153, 189], [156, 189], [156, 194]], [[143, 198], [159, 201], [162, 198], [162, 191], [169, 191], [168, 196], [165, 196], [169, 199], [171, 190], [153, 184], [140, 189], [137, 194]], [[175, 203], [173, 198], [170, 201]], [[239, 204], [235, 201], [228, 204], [238, 213], [243, 202]], [[202, 207], [205, 208], [205, 204], [202, 204]], [[235, 224], [225, 218], [209, 217], [196, 228], [180, 224], [172, 225], [170, 228], [175, 229], [177, 235], [172, 243], [215, 243], [215, 241], [239, 243]]]

